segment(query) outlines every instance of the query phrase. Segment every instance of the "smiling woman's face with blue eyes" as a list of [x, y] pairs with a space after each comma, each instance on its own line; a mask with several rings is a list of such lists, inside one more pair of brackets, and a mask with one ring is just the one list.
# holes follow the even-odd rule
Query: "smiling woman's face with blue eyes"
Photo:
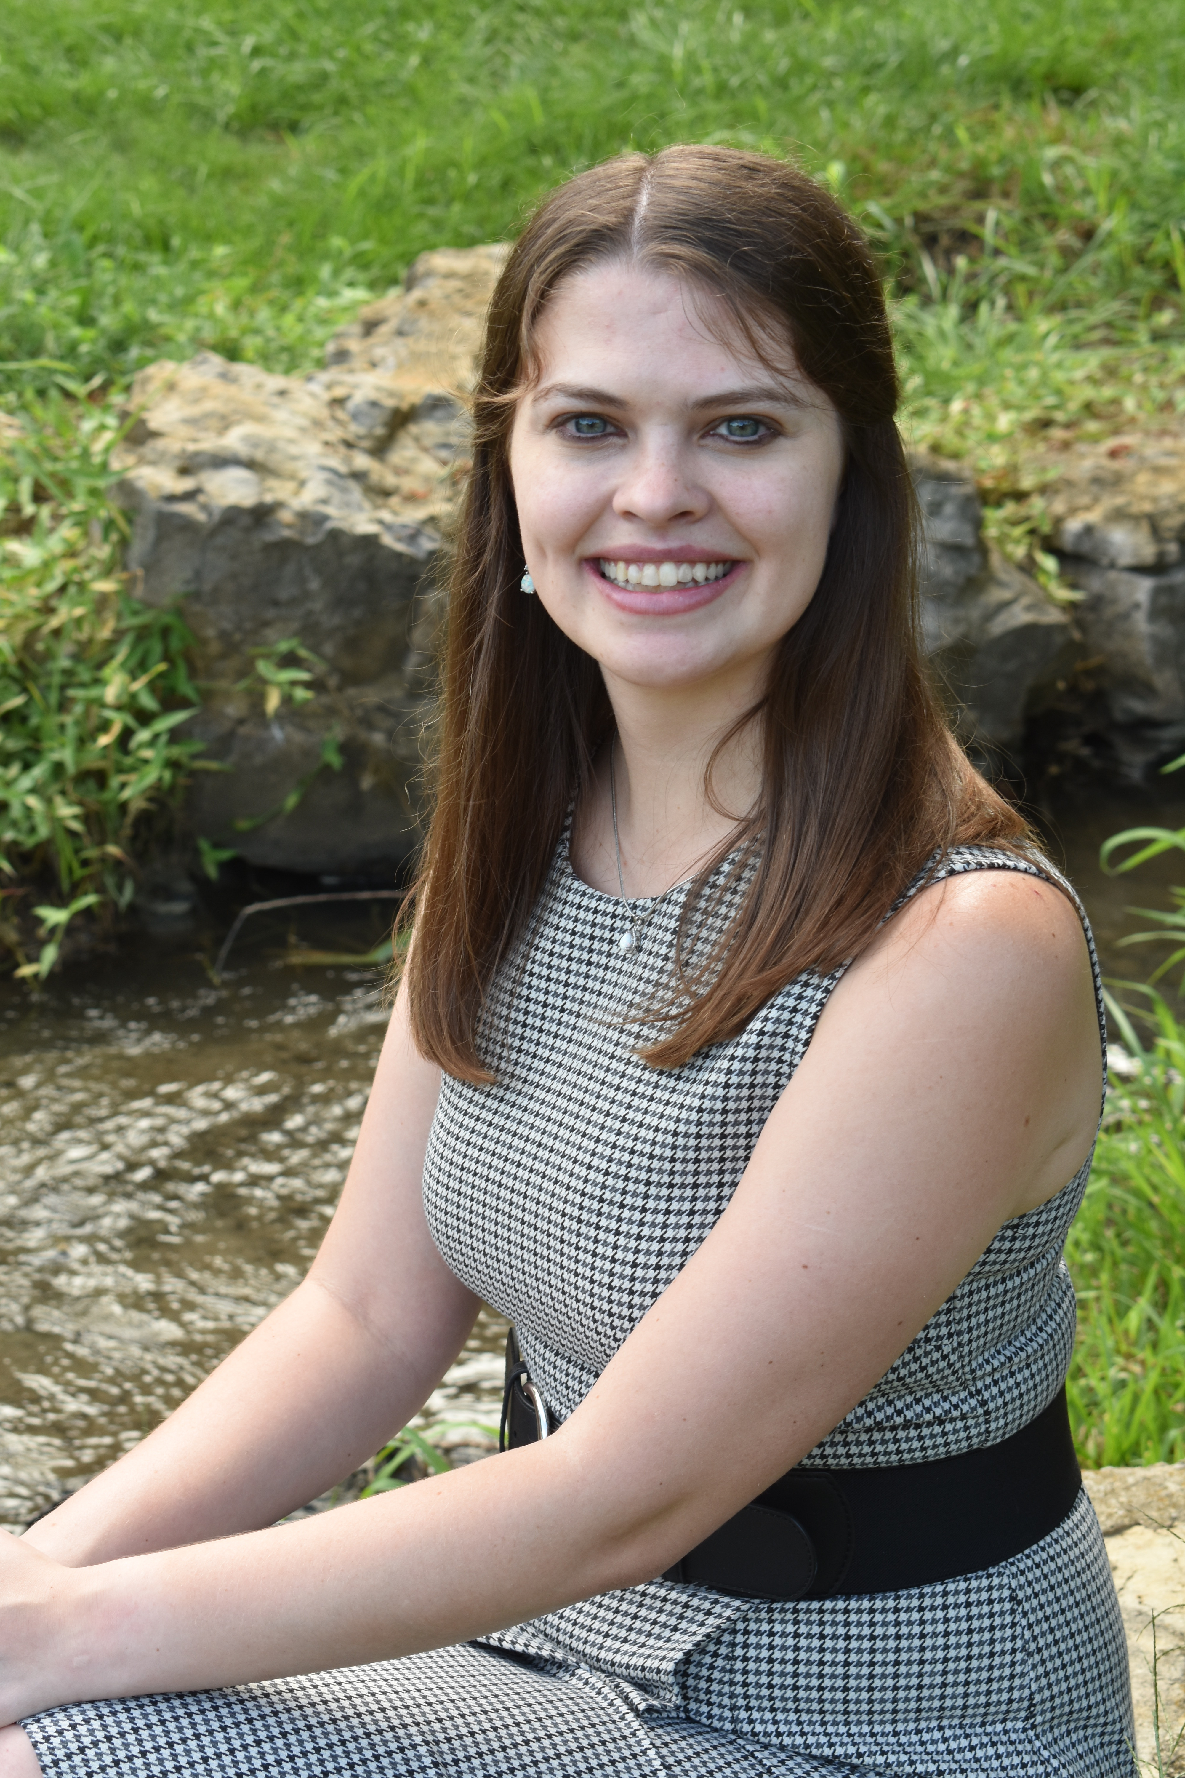
[[510, 471], [538, 597], [609, 681], [748, 695], [819, 583], [844, 444], [789, 345], [775, 375], [711, 302], [631, 263], [560, 284]]

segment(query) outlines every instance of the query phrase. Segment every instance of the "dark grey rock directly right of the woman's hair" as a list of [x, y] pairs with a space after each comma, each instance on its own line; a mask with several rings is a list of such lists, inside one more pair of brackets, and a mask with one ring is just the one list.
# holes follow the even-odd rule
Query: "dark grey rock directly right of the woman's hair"
[[961, 738], [997, 756], [1078, 653], [1068, 613], [1022, 569], [986, 549], [974, 482], [958, 464], [913, 459], [924, 523], [922, 635]]

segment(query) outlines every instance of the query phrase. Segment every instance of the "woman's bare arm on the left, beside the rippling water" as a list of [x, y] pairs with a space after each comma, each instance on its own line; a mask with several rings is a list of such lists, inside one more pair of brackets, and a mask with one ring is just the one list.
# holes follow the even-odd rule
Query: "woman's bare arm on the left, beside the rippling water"
[[69, 1566], [268, 1526], [371, 1456], [464, 1344], [476, 1298], [421, 1205], [439, 1070], [396, 1012], [341, 1204], [307, 1278], [142, 1444], [37, 1520]]

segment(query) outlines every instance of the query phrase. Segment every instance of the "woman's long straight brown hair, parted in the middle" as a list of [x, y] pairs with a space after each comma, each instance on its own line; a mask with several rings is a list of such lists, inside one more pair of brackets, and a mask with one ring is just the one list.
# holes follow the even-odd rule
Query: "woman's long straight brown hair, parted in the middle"
[[956, 747], [922, 661], [897, 372], [856, 224], [764, 155], [668, 148], [593, 167], [535, 212], [494, 292], [451, 571], [409, 994], [423, 1054], [474, 1083], [494, 1077], [478, 1047], [490, 981], [526, 932], [565, 814], [613, 729], [597, 661], [519, 592], [510, 482], [513, 407], [535, 372], [544, 304], [561, 279], [608, 260], [721, 299], [759, 352], [789, 336], [847, 450], [819, 587], [746, 718], [762, 725], [762, 788], [723, 852], [741, 846], [748, 885], [712, 957], [680, 978], [647, 1060], [679, 1067], [743, 1029], [794, 976], [855, 957], [933, 853], [1030, 837]]

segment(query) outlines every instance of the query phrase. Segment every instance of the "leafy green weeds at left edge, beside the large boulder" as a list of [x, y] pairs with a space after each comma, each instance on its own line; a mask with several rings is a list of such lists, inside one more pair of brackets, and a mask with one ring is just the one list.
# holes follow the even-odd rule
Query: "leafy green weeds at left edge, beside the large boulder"
[[112, 405], [73, 388], [0, 441], [0, 946], [20, 976], [48, 974], [78, 914], [128, 905], [197, 752], [174, 733], [197, 708], [188, 633], [123, 571], [115, 436]]

